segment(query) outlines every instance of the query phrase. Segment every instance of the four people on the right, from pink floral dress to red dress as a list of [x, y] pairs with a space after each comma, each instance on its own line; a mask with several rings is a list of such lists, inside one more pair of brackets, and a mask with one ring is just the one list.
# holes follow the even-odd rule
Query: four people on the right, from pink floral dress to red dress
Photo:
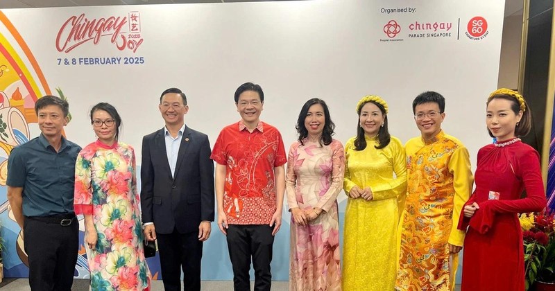
[[[412, 108], [421, 134], [403, 147], [388, 132], [386, 101], [364, 96], [357, 136], [343, 151], [323, 100], [302, 107], [286, 178], [290, 290], [454, 290], [463, 246], [462, 290], [524, 290], [517, 214], [546, 204], [538, 152], [518, 138], [531, 128], [526, 101], [510, 89], [487, 98], [495, 142], [479, 150], [476, 179], [468, 150], [441, 130], [445, 98], [427, 91]], [[341, 181], [348, 195], [343, 272]]]

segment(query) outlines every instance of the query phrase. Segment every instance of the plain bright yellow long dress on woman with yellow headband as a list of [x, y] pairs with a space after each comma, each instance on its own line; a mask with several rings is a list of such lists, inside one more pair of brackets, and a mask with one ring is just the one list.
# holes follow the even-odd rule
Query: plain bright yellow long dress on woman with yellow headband
[[373, 200], [348, 198], [343, 245], [343, 290], [393, 290], [399, 211], [397, 197], [406, 192], [407, 168], [402, 143], [391, 136], [377, 150], [366, 137], [366, 148], [345, 144], [345, 193], [370, 187]]

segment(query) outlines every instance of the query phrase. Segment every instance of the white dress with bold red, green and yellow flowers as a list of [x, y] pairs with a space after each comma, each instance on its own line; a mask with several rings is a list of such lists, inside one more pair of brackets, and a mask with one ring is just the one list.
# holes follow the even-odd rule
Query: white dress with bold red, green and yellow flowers
[[75, 167], [75, 210], [91, 214], [98, 234], [87, 249], [92, 290], [148, 290], [135, 152], [130, 145], [87, 145]]

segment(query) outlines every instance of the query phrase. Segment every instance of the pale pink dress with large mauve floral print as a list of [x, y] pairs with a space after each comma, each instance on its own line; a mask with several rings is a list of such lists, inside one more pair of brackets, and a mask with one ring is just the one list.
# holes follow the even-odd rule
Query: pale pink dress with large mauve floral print
[[305, 226], [291, 215], [289, 290], [341, 290], [339, 215], [345, 152], [341, 142], [319, 145], [307, 139], [291, 145], [287, 163], [289, 209], [318, 207], [323, 212]]

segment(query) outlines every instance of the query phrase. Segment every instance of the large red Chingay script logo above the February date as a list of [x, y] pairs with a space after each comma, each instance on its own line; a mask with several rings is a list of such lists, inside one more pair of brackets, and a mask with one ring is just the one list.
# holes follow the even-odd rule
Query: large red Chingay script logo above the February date
[[[140, 35], [140, 14], [129, 12], [128, 17], [87, 19], [85, 13], [69, 17], [58, 31], [56, 49], [69, 53], [85, 42], [92, 40], [94, 44], [98, 44], [101, 37], [111, 36], [110, 42], [120, 51], [129, 49], [135, 53], [143, 42]], [[122, 31], [125, 28], [129, 29], [129, 33]]]

